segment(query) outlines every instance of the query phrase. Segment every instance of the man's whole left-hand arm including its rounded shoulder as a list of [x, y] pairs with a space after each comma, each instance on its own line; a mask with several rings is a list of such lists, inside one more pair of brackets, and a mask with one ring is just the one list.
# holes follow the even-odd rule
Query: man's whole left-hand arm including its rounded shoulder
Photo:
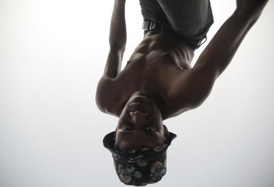
[[105, 70], [96, 91], [96, 102], [98, 108], [104, 113], [113, 113], [115, 89], [113, 78], [121, 71], [121, 62], [125, 51], [127, 32], [125, 27], [125, 0], [114, 0], [114, 8], [110, 23], [110, 52], [105, 64]]

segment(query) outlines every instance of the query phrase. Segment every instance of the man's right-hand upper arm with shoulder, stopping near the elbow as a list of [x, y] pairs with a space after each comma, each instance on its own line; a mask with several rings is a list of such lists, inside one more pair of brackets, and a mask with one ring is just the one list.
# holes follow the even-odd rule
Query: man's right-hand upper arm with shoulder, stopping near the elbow
[[191, 106], [199, 106], [208, 97], [216, 78], [234, 57], [245, 37], [249, 24], [237, 16], [231, 16], [214, 35], [210, 44], [199, 56], [195, 66], [179, 77], [180, 94], [186, 95]]

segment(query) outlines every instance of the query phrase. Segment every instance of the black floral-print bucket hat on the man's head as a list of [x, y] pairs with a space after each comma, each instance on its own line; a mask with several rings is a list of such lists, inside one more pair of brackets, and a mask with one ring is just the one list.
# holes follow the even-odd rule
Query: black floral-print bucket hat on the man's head
[[164, 145], [142, 149], [114, 149], [114, 132], [103, 139], [103, 145], [110, 150], [116, 173], [124, 184], [145, 186], [160, 181], [166, 174], [166, 149], [177, 135], [169, 132]]

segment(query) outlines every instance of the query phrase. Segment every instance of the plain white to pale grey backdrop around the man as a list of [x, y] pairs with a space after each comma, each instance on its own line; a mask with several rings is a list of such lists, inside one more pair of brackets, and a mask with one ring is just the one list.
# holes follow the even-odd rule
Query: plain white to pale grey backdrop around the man
[[[126, 2], [123, 67], [143, 36], [138, 3]], [[208, 41], [236, 7], [211, 3]], [[1, 187], [125, 186], [102, 144], [118, 118], [95, 104], [112, 7], [113, 0], [0, 0]], [[177, 139], [166, 176], [151, 186], [274, 186], [273, 11], [269, 1], [208, 100], [164, 121]]]

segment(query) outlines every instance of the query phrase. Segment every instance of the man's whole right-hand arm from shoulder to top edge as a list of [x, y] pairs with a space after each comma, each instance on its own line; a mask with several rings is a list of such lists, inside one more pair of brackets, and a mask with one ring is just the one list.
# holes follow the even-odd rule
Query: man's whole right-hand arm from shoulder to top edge
[[229, 65], [245, 35], [260, 17], [266, 3], [267, 0], [237, 1], [236, 11], [214, 35], [195, 66], [179, 76], [179, 81], [174, 84], [173, 96], [180, 101], [178, 108], [184, 106], [187, 109], [194, 109], [206, 100], [216, 78]]

